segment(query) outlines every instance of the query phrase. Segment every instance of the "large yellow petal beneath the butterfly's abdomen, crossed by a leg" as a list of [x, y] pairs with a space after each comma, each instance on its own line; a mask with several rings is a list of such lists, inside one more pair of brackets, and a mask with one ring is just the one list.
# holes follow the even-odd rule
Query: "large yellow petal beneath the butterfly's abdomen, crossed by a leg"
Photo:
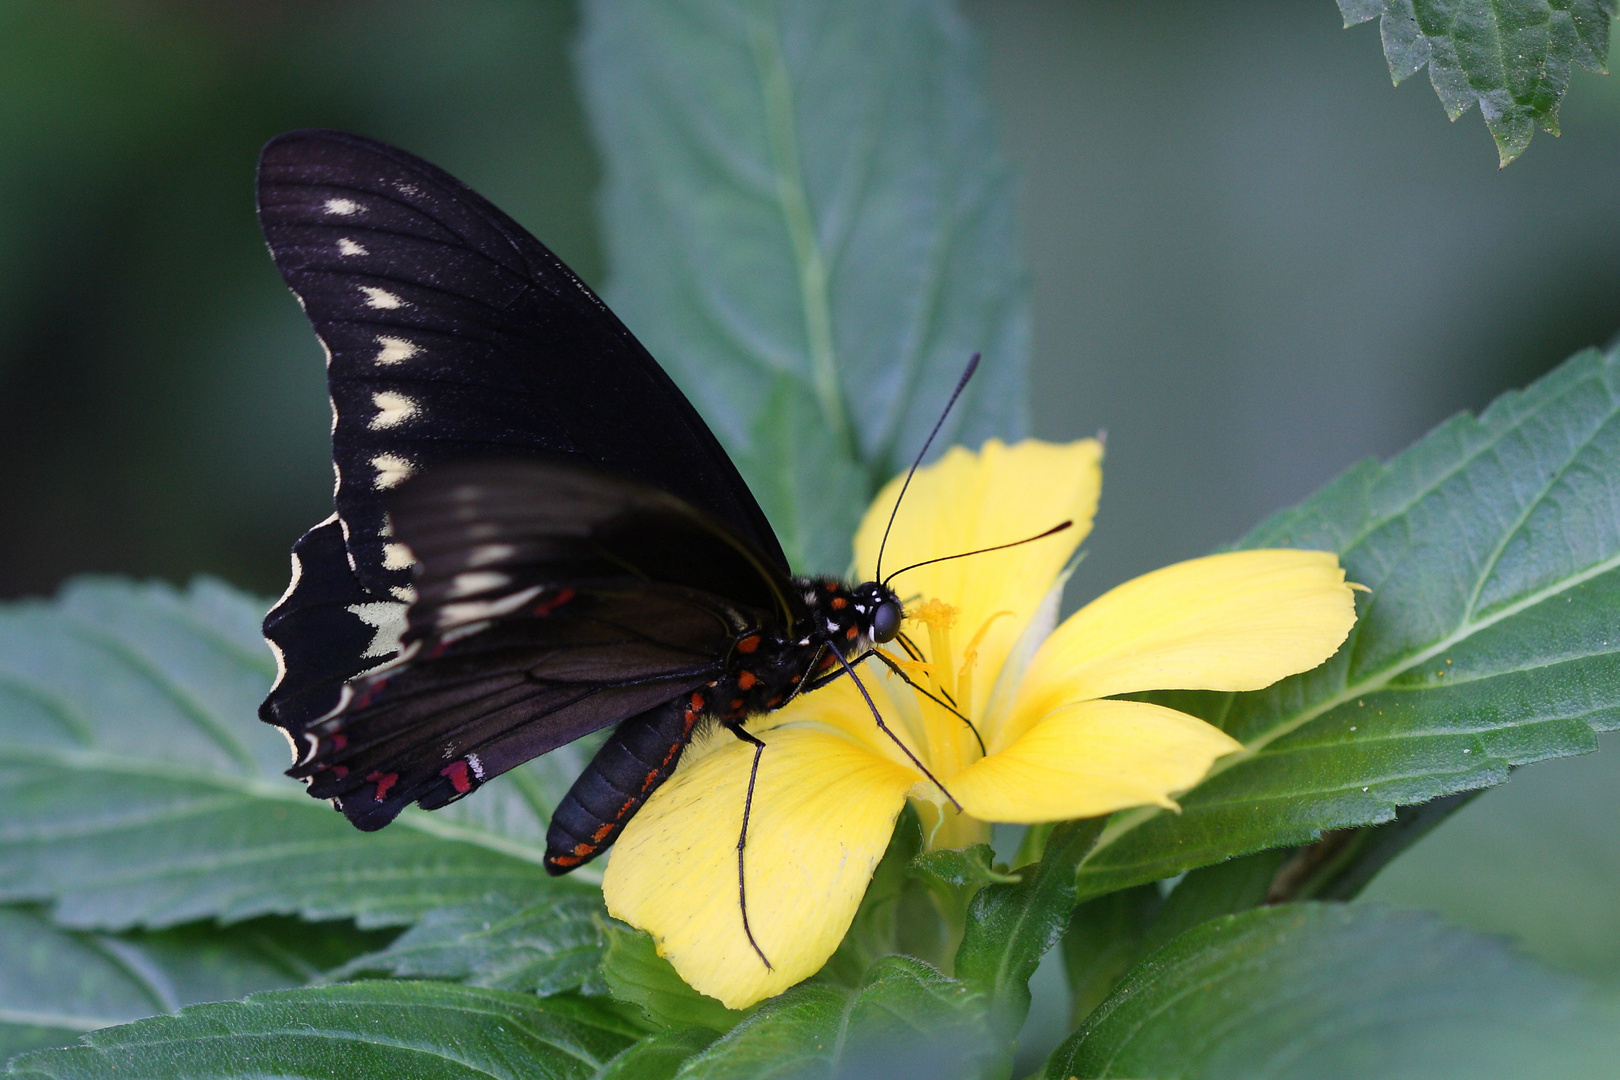
[[[849, 929], [917, 772], [841, 735], [765, 733], [745, 852], [748, 946], [737, 904], [737, 832], [753, 750], [729, 732], [693, 746], [614, 845], [608, 912], [653, 934], [690, 986], [732, 1009], [815, 975]], [[705, 753], [708, 750], [708, 753]]]

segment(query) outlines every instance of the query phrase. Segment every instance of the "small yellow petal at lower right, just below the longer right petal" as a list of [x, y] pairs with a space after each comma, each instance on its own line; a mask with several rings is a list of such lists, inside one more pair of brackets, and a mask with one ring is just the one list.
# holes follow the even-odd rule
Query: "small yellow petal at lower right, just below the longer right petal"
[[1192, 787], [1217, 758], [1241, 748], [1186, 712], [1142, 701], [1082, 701], [959, 772], [951, 793], [974, 818], [1024, 824], [1128, 806], [1174, 808], [1173, 792]]

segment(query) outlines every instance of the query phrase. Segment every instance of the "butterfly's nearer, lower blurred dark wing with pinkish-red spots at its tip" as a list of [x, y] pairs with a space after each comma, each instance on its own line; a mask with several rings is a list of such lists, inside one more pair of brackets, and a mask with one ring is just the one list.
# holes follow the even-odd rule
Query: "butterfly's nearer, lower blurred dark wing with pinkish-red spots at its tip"
[[470, 461], [389, 505], [416, 567], [403, 653], [303, 737], [295, 776], [361, 827], [713, 680], [797, 594], [666, 492], [557, 461]]

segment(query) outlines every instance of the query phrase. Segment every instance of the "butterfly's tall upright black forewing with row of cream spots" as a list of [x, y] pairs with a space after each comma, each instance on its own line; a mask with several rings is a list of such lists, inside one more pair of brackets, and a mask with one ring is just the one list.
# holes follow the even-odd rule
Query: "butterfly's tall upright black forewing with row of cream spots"
[[271, 254], [330, 356], [337, 512], [368, 591], [408, 588], [379, 495], [442, 461], [562, 455], [671, 492], [786, 572], [747, 484], [624, 324], [449, 173], [334, 131], [259, 162]]

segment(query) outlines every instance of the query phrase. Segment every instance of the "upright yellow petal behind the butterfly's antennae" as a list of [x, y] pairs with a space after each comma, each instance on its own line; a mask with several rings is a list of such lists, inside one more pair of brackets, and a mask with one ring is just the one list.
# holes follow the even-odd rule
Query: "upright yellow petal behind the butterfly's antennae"
[[[912, 478], [883, 552], [886, 573], [925, 559], [1035, 536], [1064, 518], [1074, 521], [1068, 531], [1034, 544], [920, 567], [896, 580], [902, 597], [936, 597], [957, 609], [953, 631], [957, 649], [991, 615], [1013, 612], [996, 619], [978, 643], [974, 701], [967, 703], [970, 716], [983, 716], [1003, 661], [1090, 533], [1102, 491], [1102, 444], [1095, 439], [1069, 444], [1027, 439], [1011, 447], [991, 439], [978, 453], [951, 447]], [[902, 481], [904, 476], [897, 476], [878, 492], [855, 533], [855, 568], [862, 580], [870, 580], [876, 570], [883, 529]], [[910, 636], [928, 651], [927, 633]]]

